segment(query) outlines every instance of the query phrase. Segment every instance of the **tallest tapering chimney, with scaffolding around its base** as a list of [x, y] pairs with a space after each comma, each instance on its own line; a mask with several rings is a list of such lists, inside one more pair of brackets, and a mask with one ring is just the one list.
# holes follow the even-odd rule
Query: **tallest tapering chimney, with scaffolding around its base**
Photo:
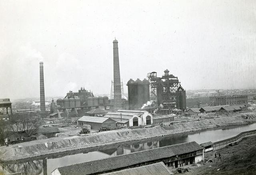
[[121, 93], [121, 81], [120, 81], [120, 69], [119, 69], [118, 41], [116, 40], [116, 38], [113, 41], [113, 55], [114, 55], [114, 101], [116, 106], [120, 106], [122, 102], [122, 93]]

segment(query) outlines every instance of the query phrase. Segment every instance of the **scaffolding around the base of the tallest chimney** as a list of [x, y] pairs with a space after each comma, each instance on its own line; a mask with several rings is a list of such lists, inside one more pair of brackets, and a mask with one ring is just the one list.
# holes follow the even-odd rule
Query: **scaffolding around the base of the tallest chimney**
[[121, 99], [114, 98], [114, 81], [111, 81], [111, 91], [110, 91], [110, 104], [111, 108], [116, 111], [118, 109], [124, 109], [124, 85], [121, 82]]

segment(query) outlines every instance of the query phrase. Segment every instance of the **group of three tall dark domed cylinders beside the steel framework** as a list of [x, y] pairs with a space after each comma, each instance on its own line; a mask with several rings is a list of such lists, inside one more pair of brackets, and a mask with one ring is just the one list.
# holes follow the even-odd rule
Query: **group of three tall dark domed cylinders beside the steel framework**
[[128, 105], [129, 109], [141, 108], [144, 103], [150, 101], [149, 81], [144, 79], [136, 81], [130, 79], [127, 82], [128, 86]]

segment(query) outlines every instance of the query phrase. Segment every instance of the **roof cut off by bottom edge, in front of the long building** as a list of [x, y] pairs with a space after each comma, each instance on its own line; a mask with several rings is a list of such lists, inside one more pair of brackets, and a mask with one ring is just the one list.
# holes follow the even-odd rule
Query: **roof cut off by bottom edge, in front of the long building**
[[103, 175], [173, 175], [173, 173], [163, 162], [158, 162], [142, 167], [105, 173]]

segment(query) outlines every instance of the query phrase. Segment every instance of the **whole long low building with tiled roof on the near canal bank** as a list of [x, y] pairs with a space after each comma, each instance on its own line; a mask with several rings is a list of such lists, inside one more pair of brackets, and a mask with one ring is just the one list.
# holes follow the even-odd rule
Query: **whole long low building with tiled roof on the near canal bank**
[[198, 163], [204, 147], [195, 141], [56, 168], [52, 175], [98, 175], [164, 162], [169, 169]]

